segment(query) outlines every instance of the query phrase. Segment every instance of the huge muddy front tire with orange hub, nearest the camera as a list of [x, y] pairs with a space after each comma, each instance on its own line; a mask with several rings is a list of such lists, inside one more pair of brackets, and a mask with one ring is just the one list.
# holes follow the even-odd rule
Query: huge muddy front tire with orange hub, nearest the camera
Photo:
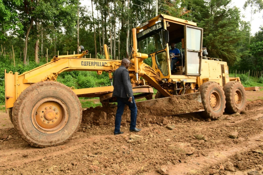
[[29, 86], [20, 94], [12, 117], [18, 134], [31, 146], [55, 146], [77, 131], [82, 108], [70, 88], [45, 81]]

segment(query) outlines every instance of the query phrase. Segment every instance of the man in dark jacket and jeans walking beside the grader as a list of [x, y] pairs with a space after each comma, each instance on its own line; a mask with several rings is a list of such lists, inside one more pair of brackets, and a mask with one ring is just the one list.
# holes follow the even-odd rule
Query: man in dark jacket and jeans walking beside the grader
[[113, 75], [113, 97], [117, 97], [117, 111], [115, 115], [115, 129], [114, 135], [122, 134], [120, 131], [120, 124], [125, 104], [131, 110], [131, 124], [130, 132], [139, 132], [141, 129], [136, 128], [137, 107], [134, 101], [134, 96], [131, 88], [131, 81], [129, 77], [130, 61], [124, 58], [121, 66], [114, 72]]

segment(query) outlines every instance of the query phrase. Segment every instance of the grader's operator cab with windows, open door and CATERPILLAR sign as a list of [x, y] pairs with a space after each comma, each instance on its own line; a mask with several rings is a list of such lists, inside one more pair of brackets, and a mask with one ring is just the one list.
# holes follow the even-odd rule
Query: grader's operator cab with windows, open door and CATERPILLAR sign
[[[203, 29], [196, 23], [159, 15], [137, 27], [137, 42], [140, 53], [146, 53], [153, 69], [163, 78], [171, 75], [200, 76], [202, 58]], [[180, 50], [180, 57], [171, 70], [172, 55], [169, 48], [172, 43]]]

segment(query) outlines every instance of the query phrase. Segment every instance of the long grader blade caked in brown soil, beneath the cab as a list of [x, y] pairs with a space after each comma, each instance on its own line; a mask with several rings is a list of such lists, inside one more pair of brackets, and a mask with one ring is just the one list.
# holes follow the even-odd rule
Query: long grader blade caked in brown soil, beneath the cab
[[136, 102], [138, 111], [155, 116], [168, 116], [204, 111], [200, 92]]

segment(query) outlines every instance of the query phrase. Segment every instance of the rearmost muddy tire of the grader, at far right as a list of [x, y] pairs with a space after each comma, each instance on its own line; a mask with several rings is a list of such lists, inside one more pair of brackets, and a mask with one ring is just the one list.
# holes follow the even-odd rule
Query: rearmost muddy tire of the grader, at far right
[[223, 88], [226, 96], [226, 112], [240, 113], [246, 107], [246, 92], [238, 81], [230, 81]]

